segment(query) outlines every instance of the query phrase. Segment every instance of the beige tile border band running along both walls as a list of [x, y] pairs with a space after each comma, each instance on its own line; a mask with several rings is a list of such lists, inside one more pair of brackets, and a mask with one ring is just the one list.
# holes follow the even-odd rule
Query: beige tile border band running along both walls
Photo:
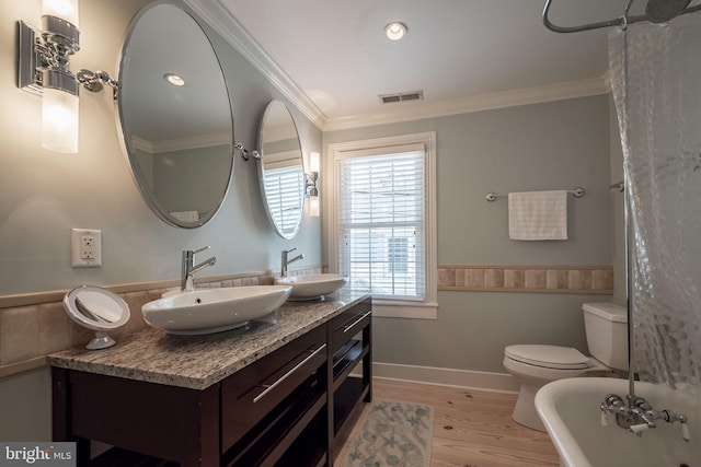
[[[325, 269], [314, 267], [290, 273], [319, 273]], [[273, 281], [274, 275], [262, 272], [206, 278], [198, 280], [197, 287], [266, 285]], [[174, 280], [105, 287], [118, 293], [131, 311], [129, 323], [111, 335], [118, 340], [119, 336], [147, 327], [141, 306], [177, 284]], [[613, 269], [610, 266], [439, 266], [438, 290], [610, 295]], [[92, 331], [66, 315], [61, 302], [66, 292], [0, 297], [0, 377], [44, 366], [47, 354], [83, 346], [92, 339]]]

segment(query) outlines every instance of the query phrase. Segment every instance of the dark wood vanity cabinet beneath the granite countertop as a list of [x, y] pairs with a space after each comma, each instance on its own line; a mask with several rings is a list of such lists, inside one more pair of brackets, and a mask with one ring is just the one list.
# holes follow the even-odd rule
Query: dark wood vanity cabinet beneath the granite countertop
[[[370, 310], [364, 300], [205, 389], [54, 367], [54, 440], [78, 443], [80, 467], [331, 466], [338, 430], [371, 399]], [[91, 440], [115, 447], [91, 459]]]

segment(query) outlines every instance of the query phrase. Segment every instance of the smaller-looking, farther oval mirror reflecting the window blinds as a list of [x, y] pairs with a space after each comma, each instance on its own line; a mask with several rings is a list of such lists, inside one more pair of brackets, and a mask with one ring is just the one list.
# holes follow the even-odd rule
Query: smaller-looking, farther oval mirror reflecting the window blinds
[[295, 120], [279, 101], [272, 101], [265, 108], [258, 151], [258, 176], [267, 215], [283, 238], [294, 238], [304, 207], [304, 166]]

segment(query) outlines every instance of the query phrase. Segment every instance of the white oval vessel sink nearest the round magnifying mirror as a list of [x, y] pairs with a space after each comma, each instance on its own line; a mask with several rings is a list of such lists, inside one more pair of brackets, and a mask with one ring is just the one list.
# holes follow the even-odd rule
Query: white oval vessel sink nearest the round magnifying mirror
[[244, 326], [280, 306], [289, 285], [199, 289], [154, 300], [141, 307], [143, 319], [169, 334], [211, 334]]

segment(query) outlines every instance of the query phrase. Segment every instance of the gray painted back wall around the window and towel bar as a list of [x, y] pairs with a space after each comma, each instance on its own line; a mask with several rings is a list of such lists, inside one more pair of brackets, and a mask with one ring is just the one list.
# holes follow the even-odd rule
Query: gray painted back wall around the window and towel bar
[[[324, 133], [330, 143], [436, 131], [439, 265], [610, 265], [609, 101], [606, 95]], [[329, 183], [329, 180], [326, 180]], [[507, 202], [487, 191], [572, 189], [570, 240], [508, 238]], [[376, 318], [383, 363], [504, 373], [504, 347], [587, 351], [582, 303], [600, 295], [438, 293], [438, 319]]]

